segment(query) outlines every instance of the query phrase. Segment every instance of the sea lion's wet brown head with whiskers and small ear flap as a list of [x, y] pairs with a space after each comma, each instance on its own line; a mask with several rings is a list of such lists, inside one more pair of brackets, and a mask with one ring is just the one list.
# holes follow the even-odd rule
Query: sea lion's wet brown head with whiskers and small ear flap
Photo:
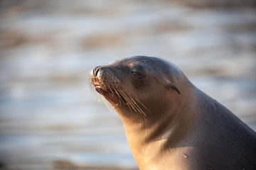
[[172, 107], [171, 101], [179, 103], [179, 96], [186, 94], [180, 81], [188, 79], [171, 62], [136, 55], [95, 67], [90, 81], [119, 115], [137, 119], [159, 116]]

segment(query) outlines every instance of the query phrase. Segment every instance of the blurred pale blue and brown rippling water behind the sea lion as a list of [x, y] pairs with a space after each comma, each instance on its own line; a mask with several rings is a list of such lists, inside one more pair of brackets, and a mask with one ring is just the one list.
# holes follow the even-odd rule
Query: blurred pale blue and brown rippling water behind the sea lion
[[90, 69], [176, 64], [256, 130], [254, 0], [1, 0], [0, 169], [137, 169]]

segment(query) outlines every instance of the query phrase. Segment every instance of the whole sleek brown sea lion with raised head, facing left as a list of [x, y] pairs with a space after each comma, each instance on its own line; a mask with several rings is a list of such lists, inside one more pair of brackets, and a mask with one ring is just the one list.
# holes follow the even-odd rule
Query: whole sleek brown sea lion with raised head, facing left
[[139, 169], [256, 169], [256, 133], [174, 64], [137, 55], [95, 67]]

